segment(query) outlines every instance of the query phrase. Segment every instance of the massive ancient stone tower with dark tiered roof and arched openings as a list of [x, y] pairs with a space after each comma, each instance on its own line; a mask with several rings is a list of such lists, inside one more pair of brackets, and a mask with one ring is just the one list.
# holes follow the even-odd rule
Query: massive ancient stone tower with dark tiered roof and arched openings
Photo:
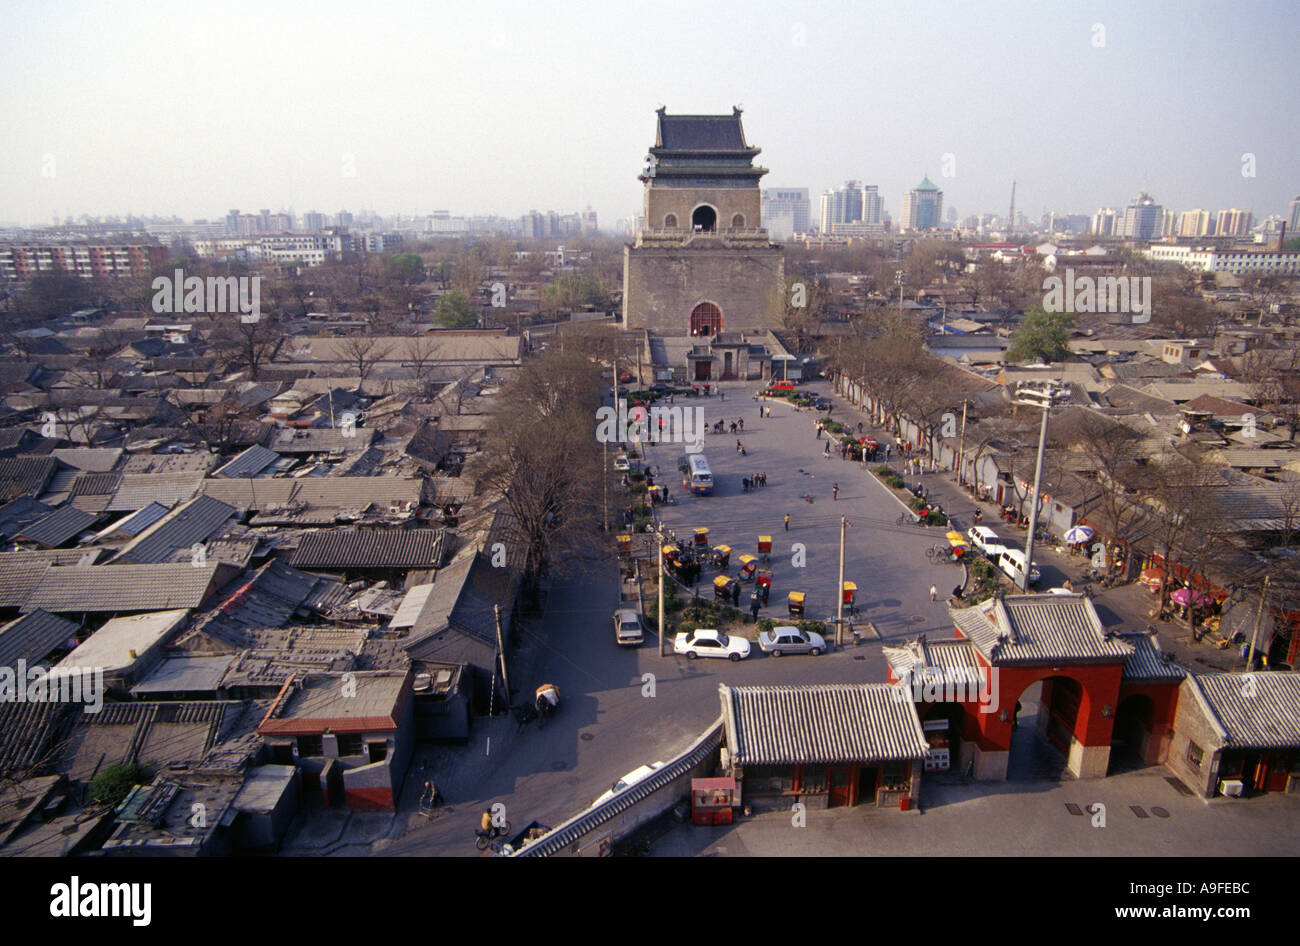
[[762, 225], [755, 168], [740, 109], [670, 116], [640, 181], [645, 225], [623, 252], [623, 327], [714, 337], [780, 326], [785, 260]]

